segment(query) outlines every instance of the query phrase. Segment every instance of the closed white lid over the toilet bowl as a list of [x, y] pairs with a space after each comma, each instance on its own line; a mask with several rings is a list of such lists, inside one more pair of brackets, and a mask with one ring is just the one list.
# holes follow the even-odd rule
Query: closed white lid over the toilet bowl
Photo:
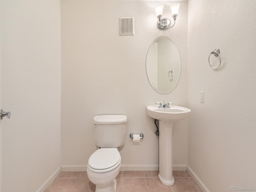
[[90, 156], [88, 165], [93, 169], [108, 169], [117, 164], [120, 158], [117, 148], [100, 148]]

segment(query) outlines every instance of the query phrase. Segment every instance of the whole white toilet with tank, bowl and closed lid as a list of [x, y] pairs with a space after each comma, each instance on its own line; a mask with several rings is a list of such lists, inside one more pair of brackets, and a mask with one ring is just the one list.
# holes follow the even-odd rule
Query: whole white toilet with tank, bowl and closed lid
[[127, 117], [98, 115], [93, 121], [95, 143], [99, 149], [88, 160], [87, 175], [96, 185], [95, 192], [116, 192], [116, 176], [121, 167], [117, 148], [124, 145]]

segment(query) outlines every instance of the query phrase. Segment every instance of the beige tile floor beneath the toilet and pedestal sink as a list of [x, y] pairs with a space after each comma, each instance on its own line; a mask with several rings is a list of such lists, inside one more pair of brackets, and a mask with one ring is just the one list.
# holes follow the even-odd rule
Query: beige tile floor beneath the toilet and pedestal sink
[[[186, 171], [173, 172], [175, 184], [165, 186], [158, 171], [121, 171], [116, 192], [202, 192]], [[46, 192], [95, 192], [86, 172], [61, 172]]]

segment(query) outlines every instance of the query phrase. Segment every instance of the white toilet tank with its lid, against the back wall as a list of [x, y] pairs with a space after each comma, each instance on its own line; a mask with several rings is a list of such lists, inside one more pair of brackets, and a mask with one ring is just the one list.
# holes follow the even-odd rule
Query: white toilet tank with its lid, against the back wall
[[98, 115], [93, 121], [96, 146], [111, 148], [124, 145], [127, 122], [125, 115]]

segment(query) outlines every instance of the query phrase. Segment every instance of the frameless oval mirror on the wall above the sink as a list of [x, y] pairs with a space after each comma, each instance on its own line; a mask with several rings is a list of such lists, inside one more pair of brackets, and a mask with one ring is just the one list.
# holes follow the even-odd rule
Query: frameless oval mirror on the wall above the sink
[[148, 80], [154, 90], [170, 93], [180, 78], [180, 53], [175, 43], [166, 36], [158, 37], [150, 45], [146, 59]]

